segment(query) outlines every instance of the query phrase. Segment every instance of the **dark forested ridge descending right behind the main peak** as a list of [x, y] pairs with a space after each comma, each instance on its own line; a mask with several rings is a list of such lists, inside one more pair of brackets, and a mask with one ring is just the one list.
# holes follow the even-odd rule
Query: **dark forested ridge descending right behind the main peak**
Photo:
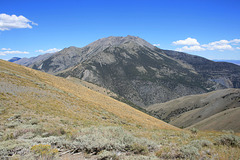
[[227, 88], [240, 88], [239, 66], [228, 62], [214, 62], [183, 52], [164, 50], [172, 58], [190, 64], [202, 77], [222, 84]]

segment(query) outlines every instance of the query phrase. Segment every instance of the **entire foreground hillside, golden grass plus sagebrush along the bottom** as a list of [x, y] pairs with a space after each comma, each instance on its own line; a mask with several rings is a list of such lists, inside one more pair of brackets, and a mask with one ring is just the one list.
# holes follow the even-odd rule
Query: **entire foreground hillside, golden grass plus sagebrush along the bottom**
[[0, 60], [0, 159], [240, 156], [237, 134], [183, 131], [80, 84]]

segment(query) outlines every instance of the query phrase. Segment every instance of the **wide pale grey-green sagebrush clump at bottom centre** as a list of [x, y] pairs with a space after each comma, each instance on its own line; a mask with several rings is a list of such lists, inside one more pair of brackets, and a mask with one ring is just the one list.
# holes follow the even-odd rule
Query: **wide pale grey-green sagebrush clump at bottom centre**
[[[46, 138], [35, 138], [35, 142], [40, 142], [44, 144], [54, 144], [56, 146], [64, 146], [65, 148], [71, 150], [74, 149], [76, 152], [86, 152], [92, 154], [98, 154], [99, 152], [106, 151], [131, 151], [131, 146], [134, 144], [139, 144], [145, 150], [152, 150], [156, 147], [156, 144], [147, 139], [140, 139], [129, 132], [126, 132], [120, 127], [90, 127], [84, 128], [77, 133], [77, 135], [66, 139], [67, 135], [64, 136], [50, 136]], [[148, 148], [148, 149], [146, 149]], [[137, 149], [137, 147], [135, 148]]]

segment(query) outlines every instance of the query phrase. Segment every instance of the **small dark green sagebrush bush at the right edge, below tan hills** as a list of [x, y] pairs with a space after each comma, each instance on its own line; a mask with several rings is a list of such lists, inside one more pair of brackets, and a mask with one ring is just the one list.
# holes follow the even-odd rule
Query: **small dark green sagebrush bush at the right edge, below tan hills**
[[232, 134], [222, 135], [221, 137], [216, 139], [216, 144], [231, 147], [240, 147], [240, 137]]

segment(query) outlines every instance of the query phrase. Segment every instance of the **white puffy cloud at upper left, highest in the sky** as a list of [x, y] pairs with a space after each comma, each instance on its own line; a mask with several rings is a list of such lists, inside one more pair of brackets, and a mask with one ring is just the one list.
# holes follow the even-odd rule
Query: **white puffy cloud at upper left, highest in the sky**
[[38, 25], [26, 17], [20, 15], [0, 14], [0, 30], [10, 30], [13, 28], [32, 28], [32, 25]]

